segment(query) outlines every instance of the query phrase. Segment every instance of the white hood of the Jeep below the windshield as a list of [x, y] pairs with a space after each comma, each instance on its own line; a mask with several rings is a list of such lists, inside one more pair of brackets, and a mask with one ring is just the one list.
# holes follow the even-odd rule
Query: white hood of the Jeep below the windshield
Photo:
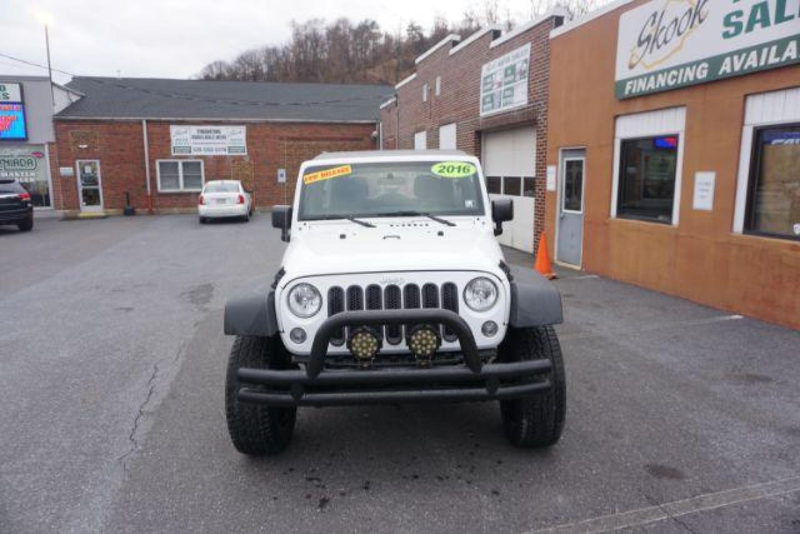
[[293, 233], [286, 281], [309, 275], [390, 271], [499, 271], [490, 227], [311, 227]]

